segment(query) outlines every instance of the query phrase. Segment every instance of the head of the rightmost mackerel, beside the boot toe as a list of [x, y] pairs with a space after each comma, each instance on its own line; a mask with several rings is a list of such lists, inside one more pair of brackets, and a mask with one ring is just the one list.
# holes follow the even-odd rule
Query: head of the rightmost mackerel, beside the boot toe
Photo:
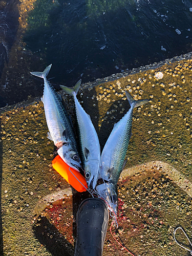
[[97, 193], [104, 199], [106, 204], [110, 206], [110, 210], [117, 216], [118, 210], [118, 192], [117, 185], [112, 182], [105, 182], [96, 186]]

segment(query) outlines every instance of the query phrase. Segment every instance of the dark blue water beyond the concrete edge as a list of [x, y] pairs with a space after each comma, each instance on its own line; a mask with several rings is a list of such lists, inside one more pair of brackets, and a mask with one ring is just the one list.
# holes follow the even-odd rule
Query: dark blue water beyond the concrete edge
[[[10, 3], [6, 8], [12, 10], [13, 0]], [[6, 32], [6, 38], [14, 38], [16, 8], [6, 27], [12, 37]], [[44, 60], [44, 68], [52, 63], [50, 75], [55, 84], [73, 86], [79, 78], [82, 82], [92, 81], [192, 50], [191, 1], [37, 0], [28, 13], [27, 23], [22, 39], [26, 49]], [[0, 30], [5, 31], [4, 27]], [[11, 44], [9, 40], [8, 51]], [[3, 43], [0, 47], [1, 75], [1, 63], [8, 62], [8, 57]], [[32, 67], [42, 70], [35, 61]], [[42, 95], [42, 90], [41, 87], [32, 96]], [[25, 84], [19, 88], [19, 97], [16, 91], [14, 102], [27, 99], [29, 90]], [[2, 99], [0, 106], [14, 103], [8, 97]]]

